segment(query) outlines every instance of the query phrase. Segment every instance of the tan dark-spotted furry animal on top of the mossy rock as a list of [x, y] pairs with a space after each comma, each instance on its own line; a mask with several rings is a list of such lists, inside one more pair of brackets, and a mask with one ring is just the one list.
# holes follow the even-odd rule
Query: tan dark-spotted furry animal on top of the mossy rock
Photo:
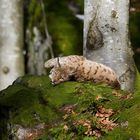
[[49, 77], [54, 85], [74, 79], [76, 81], [106, 83], [120, 88], [120, 82], [111, 68], [87, 60], [83, 56], [71, 55], [52, 58], [45, 62], [45, 68], [52, 68]]

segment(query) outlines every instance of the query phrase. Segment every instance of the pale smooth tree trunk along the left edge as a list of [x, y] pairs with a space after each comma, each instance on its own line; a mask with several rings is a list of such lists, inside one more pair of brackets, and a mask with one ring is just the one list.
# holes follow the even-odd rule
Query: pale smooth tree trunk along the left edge
[[23, 3], [0, 0], [0, 90], [24, 74]]

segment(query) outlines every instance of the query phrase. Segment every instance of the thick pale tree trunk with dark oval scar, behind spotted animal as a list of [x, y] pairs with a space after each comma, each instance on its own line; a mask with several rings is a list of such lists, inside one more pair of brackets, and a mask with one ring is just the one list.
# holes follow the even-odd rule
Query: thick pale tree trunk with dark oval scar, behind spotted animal
[[84, 55], [114, 69], [121, 88], [133, 91], [135, 66], [128, 23], [129, 0], [85, 0]]

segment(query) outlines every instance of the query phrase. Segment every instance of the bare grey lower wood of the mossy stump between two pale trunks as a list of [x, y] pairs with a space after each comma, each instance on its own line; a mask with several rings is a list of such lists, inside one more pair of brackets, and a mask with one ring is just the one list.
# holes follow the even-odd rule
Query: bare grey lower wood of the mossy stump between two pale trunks
[[[51, 37], [48, 35], [44, 39], [41, 32], [37, 27], [33, 28], [33, 36], [31, 36], [30, 30], [27, 30], [27, 73], [42, 75], [46, 74], [44, 63], [49, 59], [50, 46], [52, 46]], [[52, 55], [51, 55], [52, 56]]]

